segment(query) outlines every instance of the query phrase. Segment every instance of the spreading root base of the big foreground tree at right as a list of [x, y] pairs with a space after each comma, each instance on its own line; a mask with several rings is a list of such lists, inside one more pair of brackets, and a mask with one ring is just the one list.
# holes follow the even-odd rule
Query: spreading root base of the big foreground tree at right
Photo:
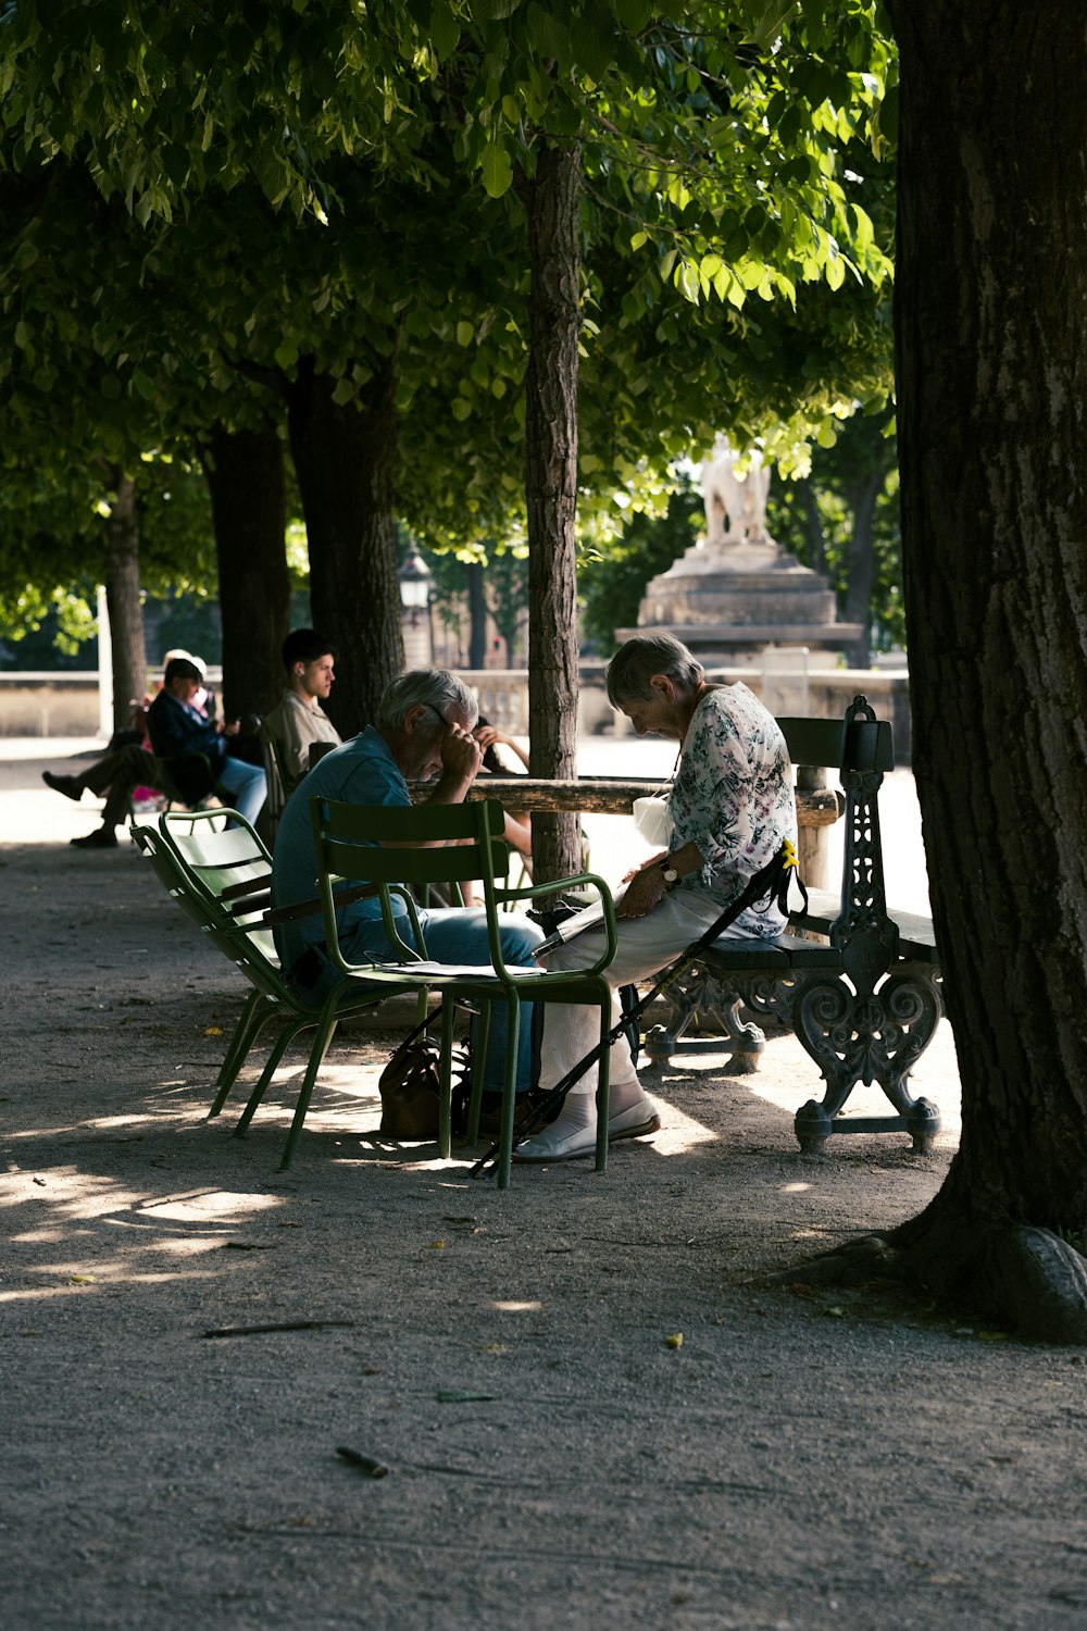
[[771, 1275], [779, 1285], [799, 1279], [808, 1285], [913, 1284], [1019, 1336], [1087, 1344], [1087, 1259], [1050, 1230], [1027, 1223], [927, 1213], [893, 1235], [865, 1235]]

